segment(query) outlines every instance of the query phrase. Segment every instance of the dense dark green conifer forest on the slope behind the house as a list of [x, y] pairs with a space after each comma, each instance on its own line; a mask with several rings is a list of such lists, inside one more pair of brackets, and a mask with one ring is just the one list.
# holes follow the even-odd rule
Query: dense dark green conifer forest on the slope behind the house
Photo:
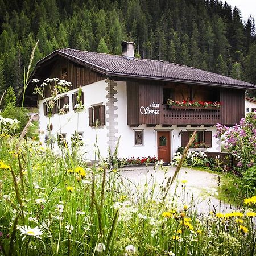
[[170, 61], [256, 84], [252, 16], [218, 0], [0, 0], [0, 94], [23, 86], [32, 49], [36, 61], [55, 49]]

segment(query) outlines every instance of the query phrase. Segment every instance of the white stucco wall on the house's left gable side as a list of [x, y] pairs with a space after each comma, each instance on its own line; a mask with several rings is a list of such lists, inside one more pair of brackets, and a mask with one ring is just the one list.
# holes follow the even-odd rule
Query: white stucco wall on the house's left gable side
[[[108, 147], [106, 147], [107, 137], [106, 137], [106, 125], [97, 129], [89, 126], [88, 108], [93, 104], [103, 103], [106, 104], [106, 83], [105, 80], [94, 82], [82, 87], [84, 92], [84, 104], [85, 109], [82, 112], [74, 112], [72, 109], [72, 94], [77, 92], [78, 89], [70, 90], [67, 93], [60, 94], [60, 96], [69, 96], [69, 112], [67, 114], [59, 115], [54, 114], [50, 123], [53, 125], [52, 135], [55, 137], [56, 141], [54, 143], [54, 149], [59, 150], [57, 146], [57, 134], [65, 133], [68, 146], [71, 146], [71, 135], [77, 132], [83, 132], [83, 141], [85, 147], [82, 148], [83, 152], [86, 153], [86, 159], [94, 159], [94, 143], [96, 142], [96, 135], [98, 136], [97, 145], [100, 149], [100, 154], [105, 158], [108, 154]], [[44, 116], [43, 112], [43, 102], [45, 100], [39, 101], [39, 126], [40, 130], [44, 131], [40, 135], [40, 141], [44, 143], [44, 137], [46, 135], [47, 124], [49, 123], [49, 118]]]

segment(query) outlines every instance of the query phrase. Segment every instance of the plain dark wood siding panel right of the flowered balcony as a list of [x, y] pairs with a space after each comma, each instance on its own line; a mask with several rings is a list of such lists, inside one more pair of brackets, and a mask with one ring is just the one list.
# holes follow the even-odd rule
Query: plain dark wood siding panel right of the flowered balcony
[[221, 89], [221, 123], [234, 125], [245, 116], [245, 90]]

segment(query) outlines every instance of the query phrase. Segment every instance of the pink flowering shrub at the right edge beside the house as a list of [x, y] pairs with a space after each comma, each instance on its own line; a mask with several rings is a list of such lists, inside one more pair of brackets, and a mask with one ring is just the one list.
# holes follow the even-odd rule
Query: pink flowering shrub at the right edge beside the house
[[222, 137], [225, 148], [238, 161], [242, 172], [256, 163], [256, 112], [242, 118], [238, 125], [226, 127], [218, 123], [215, 137]]

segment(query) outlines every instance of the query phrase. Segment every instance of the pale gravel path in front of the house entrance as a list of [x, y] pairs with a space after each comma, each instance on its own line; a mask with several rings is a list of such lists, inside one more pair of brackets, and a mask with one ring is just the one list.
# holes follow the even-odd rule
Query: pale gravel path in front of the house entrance
[[[144, 184], [147, 184], [148, 188], [152, 188], [154, 183], [158, 184], [159, 189], [161, 185], [166, 184], [169, 177], [174, 175], [174, 172], [175, 167], [164, 166], [163, 170], [160, 170], [160, 168], [154, 170], [154, 166], [139, 166], [125, 167], [122, 169], [121, 175], [133, 182], [139, 189], [144, 188]], [[170, 188], [170, 194], [173, 195], [178, 182], [176, 193], [178, 195], [184, 195], [182, 180], [187, 180], [185, 183], [185, 192], [187, 192], [186, 202], [191, 201], [193, 195], [193, 205], [196, 204], [198, 212], [203, 213], [214, 209], [217, 212], [230, 212], [233, 210], [233, 207], [216, 198], [218, 177], [217, 174], [183, 167], [177, 176], [177, 181], [175, 181]]]

